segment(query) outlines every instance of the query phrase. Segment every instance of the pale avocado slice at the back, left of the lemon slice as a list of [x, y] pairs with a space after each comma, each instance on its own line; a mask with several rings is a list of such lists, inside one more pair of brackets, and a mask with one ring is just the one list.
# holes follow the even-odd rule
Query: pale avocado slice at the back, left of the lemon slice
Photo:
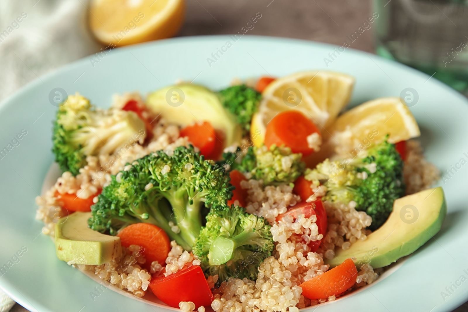
[[236, 117], [223, 108], [216, 93], [205, 87], [191, 84], [164, 87], [149, 94], [146, 103], [169, 123], [188, 126], [209, 122], [214, 129], [223, 131], [224, 147], [241, 142], [242, 130]]

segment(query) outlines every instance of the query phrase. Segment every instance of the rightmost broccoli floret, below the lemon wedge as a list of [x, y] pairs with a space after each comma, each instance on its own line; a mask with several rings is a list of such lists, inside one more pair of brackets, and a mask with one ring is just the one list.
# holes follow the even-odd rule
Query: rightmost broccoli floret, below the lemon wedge
[[395, 145], [387, 141], [362, 151], [355, 159], [327, 159], [314, 170], [307, 169], [305, 178], [327, 187], [324, 200], [356, 202], [356, 210], [372, 217], [372, 231], [385, 223], [394, 200], [405, 193], [403, 161]]

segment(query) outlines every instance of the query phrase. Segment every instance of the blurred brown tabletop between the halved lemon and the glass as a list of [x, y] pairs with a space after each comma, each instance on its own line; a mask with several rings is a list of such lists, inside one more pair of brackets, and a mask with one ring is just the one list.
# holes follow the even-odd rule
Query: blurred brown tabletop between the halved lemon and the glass
[[[186, 0], [187, 15], [178, 36], [234, 34], [259, 12], [249, 35], [279, 36], [342, 45], [372, 16], [370, 0]], [[374, 52], [373, 28], [351, 48]], [[11, 312], [28, 312], [15, 305]], [[468, 312], [468, 303], [454, 310]]]

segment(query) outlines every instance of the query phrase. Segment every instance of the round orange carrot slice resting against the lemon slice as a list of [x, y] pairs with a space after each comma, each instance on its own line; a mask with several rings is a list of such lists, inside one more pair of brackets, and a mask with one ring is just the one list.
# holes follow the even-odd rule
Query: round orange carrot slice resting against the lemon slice
[[315, 132], [321, 135], [317, 126], [301, 112], [286, 110], [274, 116], [268, 123], [265, 145], [285, 145], [290, 147], [293, 153], [302, 153], [305, 157], [314, 152], [307, 144], [307, 137]]

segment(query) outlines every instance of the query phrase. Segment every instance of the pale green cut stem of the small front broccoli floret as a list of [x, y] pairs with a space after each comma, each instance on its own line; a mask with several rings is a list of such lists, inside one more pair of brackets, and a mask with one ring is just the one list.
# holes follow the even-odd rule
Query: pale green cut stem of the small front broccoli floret
[[251, 230], [243, 231], [232, 238], [219, 236], [214, 239], [210, 247], [208, 261], [210, 265], [221, 265], [233, 259], [237, 248], [241, 246], [258, 245], [263, 247], [262, 244], [257, 241], [258, 239], [258, 234]]

